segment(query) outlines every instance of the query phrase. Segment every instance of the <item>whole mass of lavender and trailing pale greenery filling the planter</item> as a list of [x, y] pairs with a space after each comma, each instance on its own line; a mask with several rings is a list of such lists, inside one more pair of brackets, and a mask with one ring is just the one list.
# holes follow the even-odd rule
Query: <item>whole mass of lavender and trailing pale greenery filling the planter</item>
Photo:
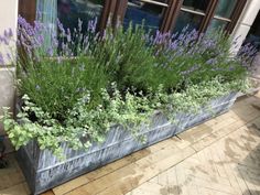
[[[83, 33], [82, 21], [73, 32], [57, 22], [58, 33], [46, 45], [50, 29], [19, 18], [19, 51], [4, 56], [15, 59], [22, 105], [18, 120], [8, 110], [3, 116], [17, 149], [34, 139], [61, 155], [63, 142], [87, 148], [102, 141], [113, 124], [138, 136], [138, 126], [149, 126], [154, 110], [171, 119], [172, 112], [195, 111], [213, 98], [248, 88], [253, 48], [230, 55], [224, 32], [184, 29], [153, 35], [130, 25], [97, 33], [96, 23], [90, 21]], [[9, 44], [12, 36], [6, 31], [0, 43]]]

